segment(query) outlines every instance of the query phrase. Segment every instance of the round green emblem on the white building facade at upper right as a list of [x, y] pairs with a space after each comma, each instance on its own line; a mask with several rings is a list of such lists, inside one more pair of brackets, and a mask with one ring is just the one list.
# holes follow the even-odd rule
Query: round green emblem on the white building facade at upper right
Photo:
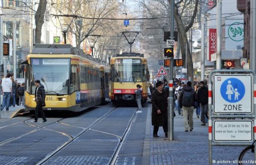
[[235, 22], [228, 27], [228, 36], [233, 41], [241, 41], [244, 37], [243, 23]]

